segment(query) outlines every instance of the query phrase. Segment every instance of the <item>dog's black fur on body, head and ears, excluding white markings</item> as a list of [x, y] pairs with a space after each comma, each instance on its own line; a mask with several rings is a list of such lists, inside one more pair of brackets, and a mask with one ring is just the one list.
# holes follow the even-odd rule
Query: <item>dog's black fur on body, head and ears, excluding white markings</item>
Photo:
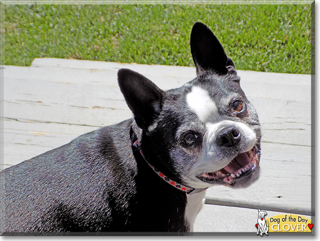
[[[217, 96], [217, 101], [227, 98], [229, 92], [240, 96], [246, 104], [243, 113], [235, 118], [227, 112], [229, 105], [223, 103], [221, 110], [226, 111], [219, 115], [247, 124], [256, 134], [257, 149], [261, 134], [256, 111], [239, 86], [232, 60], [202, 23], [192, 28], [191, 51], [197, 78], [174, 90], [160, 90], [134, 71], [119, 70], [119, 86], [134, 119], [84, 134], [3, 170], [3, 235], [192, 231], [192, 223], [186, 218], [188, 194], [163, 181], [151, 169], [140, 152], [132, 148], [133, 136], [152, 165], [168, 178], [188, 185], [185, 177], [205, 145], [203, 124], [186, 100], [192, 86], [206, 89], [211, 96]], [[181, 141], [181, 129], [192, 122], [197, 123], [193, 131], [199, 133], [194, 145], [189, 145]], [[232, 150], [239, 151], [237, 147]], [[239, 183], [256, 180], [257, 173]], [[195, 179], [204, 187], [212, 185]]]

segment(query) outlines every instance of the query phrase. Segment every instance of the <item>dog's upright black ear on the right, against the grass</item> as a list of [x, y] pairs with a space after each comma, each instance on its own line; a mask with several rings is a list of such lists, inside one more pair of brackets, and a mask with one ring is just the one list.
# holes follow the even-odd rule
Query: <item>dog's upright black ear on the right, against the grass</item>
[[233, 61], [224, 52], [224, 47], [213, 32], [203, 23], [194, 23], [190, 39], [191, 54], [197, 75], [206, 70], [214, 70], [218, 74], [226, 74], [227, 66]]

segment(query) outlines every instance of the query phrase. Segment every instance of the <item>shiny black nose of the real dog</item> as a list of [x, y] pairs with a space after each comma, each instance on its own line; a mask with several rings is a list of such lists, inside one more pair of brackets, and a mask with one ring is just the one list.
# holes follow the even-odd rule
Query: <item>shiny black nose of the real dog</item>
[[236, 147], [241, 141], [241, 133], [238, 128], [228, 126], [223, 128], [217, 137], [217, 143], [223, 147]]

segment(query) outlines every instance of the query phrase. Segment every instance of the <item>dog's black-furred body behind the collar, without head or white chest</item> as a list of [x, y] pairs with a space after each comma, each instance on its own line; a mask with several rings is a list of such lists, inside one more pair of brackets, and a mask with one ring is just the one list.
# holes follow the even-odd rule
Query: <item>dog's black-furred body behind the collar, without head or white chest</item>
[[103, 127], [6, 169], [5, 230], [187, 231], [186, 194], [132, 155], [131, 123]]

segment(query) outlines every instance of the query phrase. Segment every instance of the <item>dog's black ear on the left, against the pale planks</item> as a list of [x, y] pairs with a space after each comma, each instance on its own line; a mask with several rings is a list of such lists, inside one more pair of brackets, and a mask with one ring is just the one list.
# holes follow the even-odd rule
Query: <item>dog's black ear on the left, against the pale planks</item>
[[119, 69], [118, 83], [137, 125], [147, 130], [159, 116], [164, 91], [143, 75]]

